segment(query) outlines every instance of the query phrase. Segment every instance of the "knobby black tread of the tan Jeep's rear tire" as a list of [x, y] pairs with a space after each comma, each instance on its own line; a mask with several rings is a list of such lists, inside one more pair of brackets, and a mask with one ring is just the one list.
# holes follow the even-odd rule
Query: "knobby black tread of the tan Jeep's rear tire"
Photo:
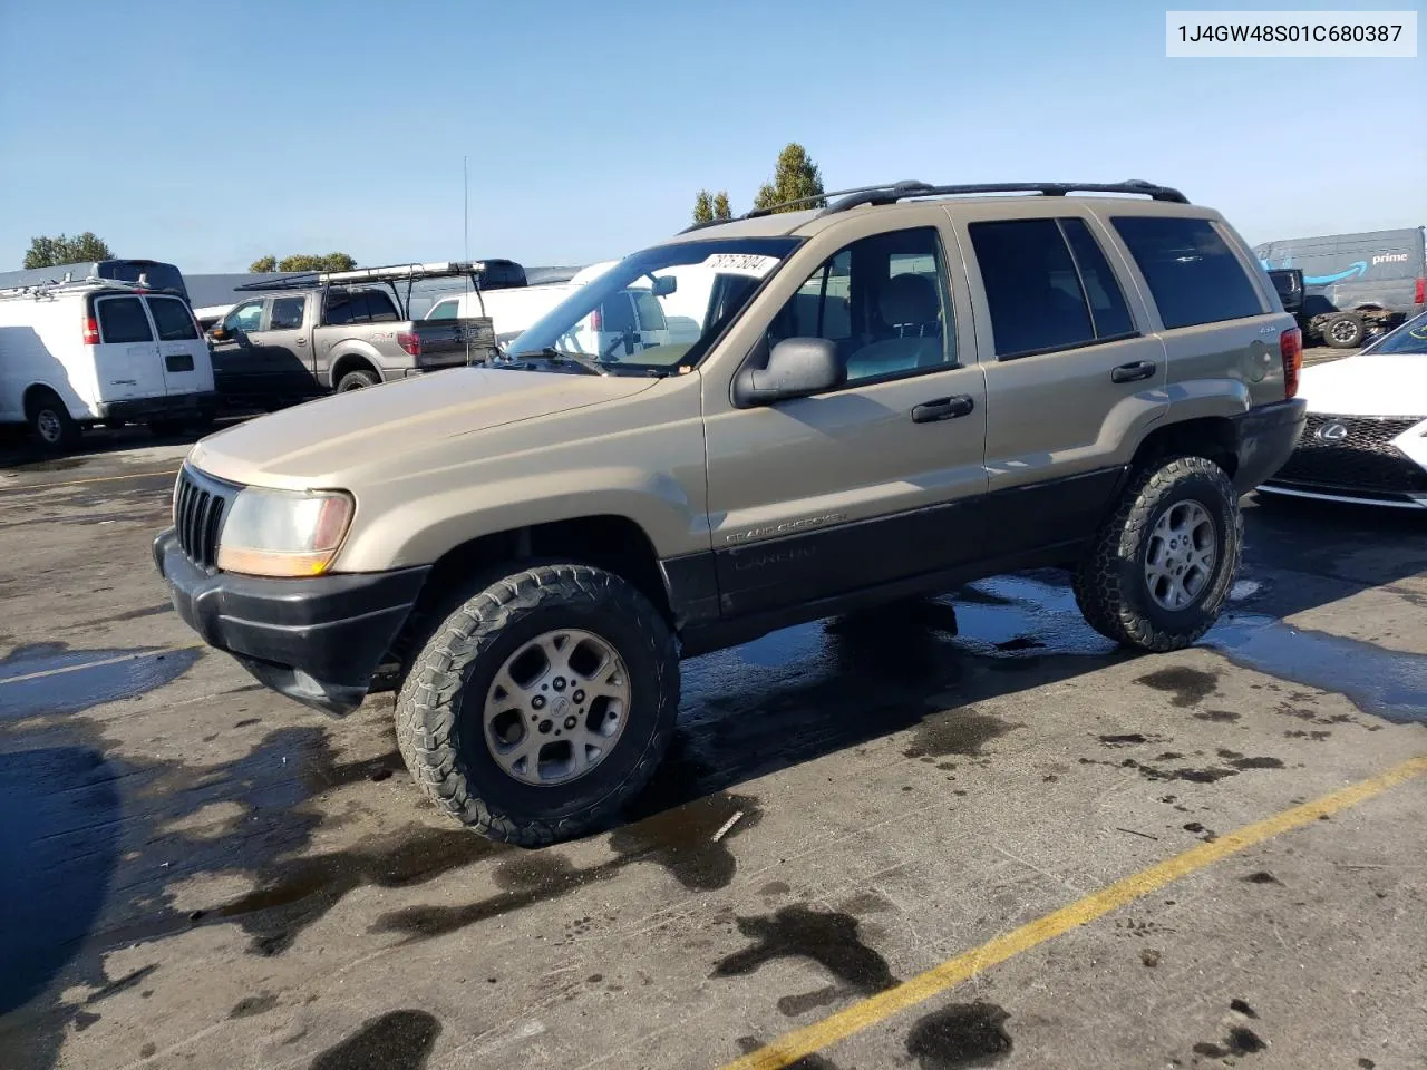
[[[1134, 611], [1120, 582], [1120, 562], [1134, 556], [1146, 535], [1150, 521], [1162, 499], [1173, 486], [1190, 477], [1203, 477], [1216, 484], [1226, 501], [1237, 502], [1239, 494], [1224, 474], [1224, 469], [1203, 457], [1176, 457], [1154, 462], [1140, 469], [1126, 489], [1120, 506], [1102, 525], [1092, 552], [1082, 561], [1075, 574], [1075, 598], [1086, 622], [1107, 639], [1143, 651], [1164, 653], [1183, 649], [1207, 632], [1223, 608], [1239, 575], [1243, 559], [1243, 512], [1233, 509], [1234, 531], [1226, 534], [1226, 548], [1230, 559], [1226, 562], [1229, 582], [1220, 582], [1219, 592], [1210, 592], [1210, 601], [1202, 626], [1187, 632], [1167, 632], [1156, 626], [1144, 615]], [[1222, 574], [1223, 575], [1223, 574]]]

